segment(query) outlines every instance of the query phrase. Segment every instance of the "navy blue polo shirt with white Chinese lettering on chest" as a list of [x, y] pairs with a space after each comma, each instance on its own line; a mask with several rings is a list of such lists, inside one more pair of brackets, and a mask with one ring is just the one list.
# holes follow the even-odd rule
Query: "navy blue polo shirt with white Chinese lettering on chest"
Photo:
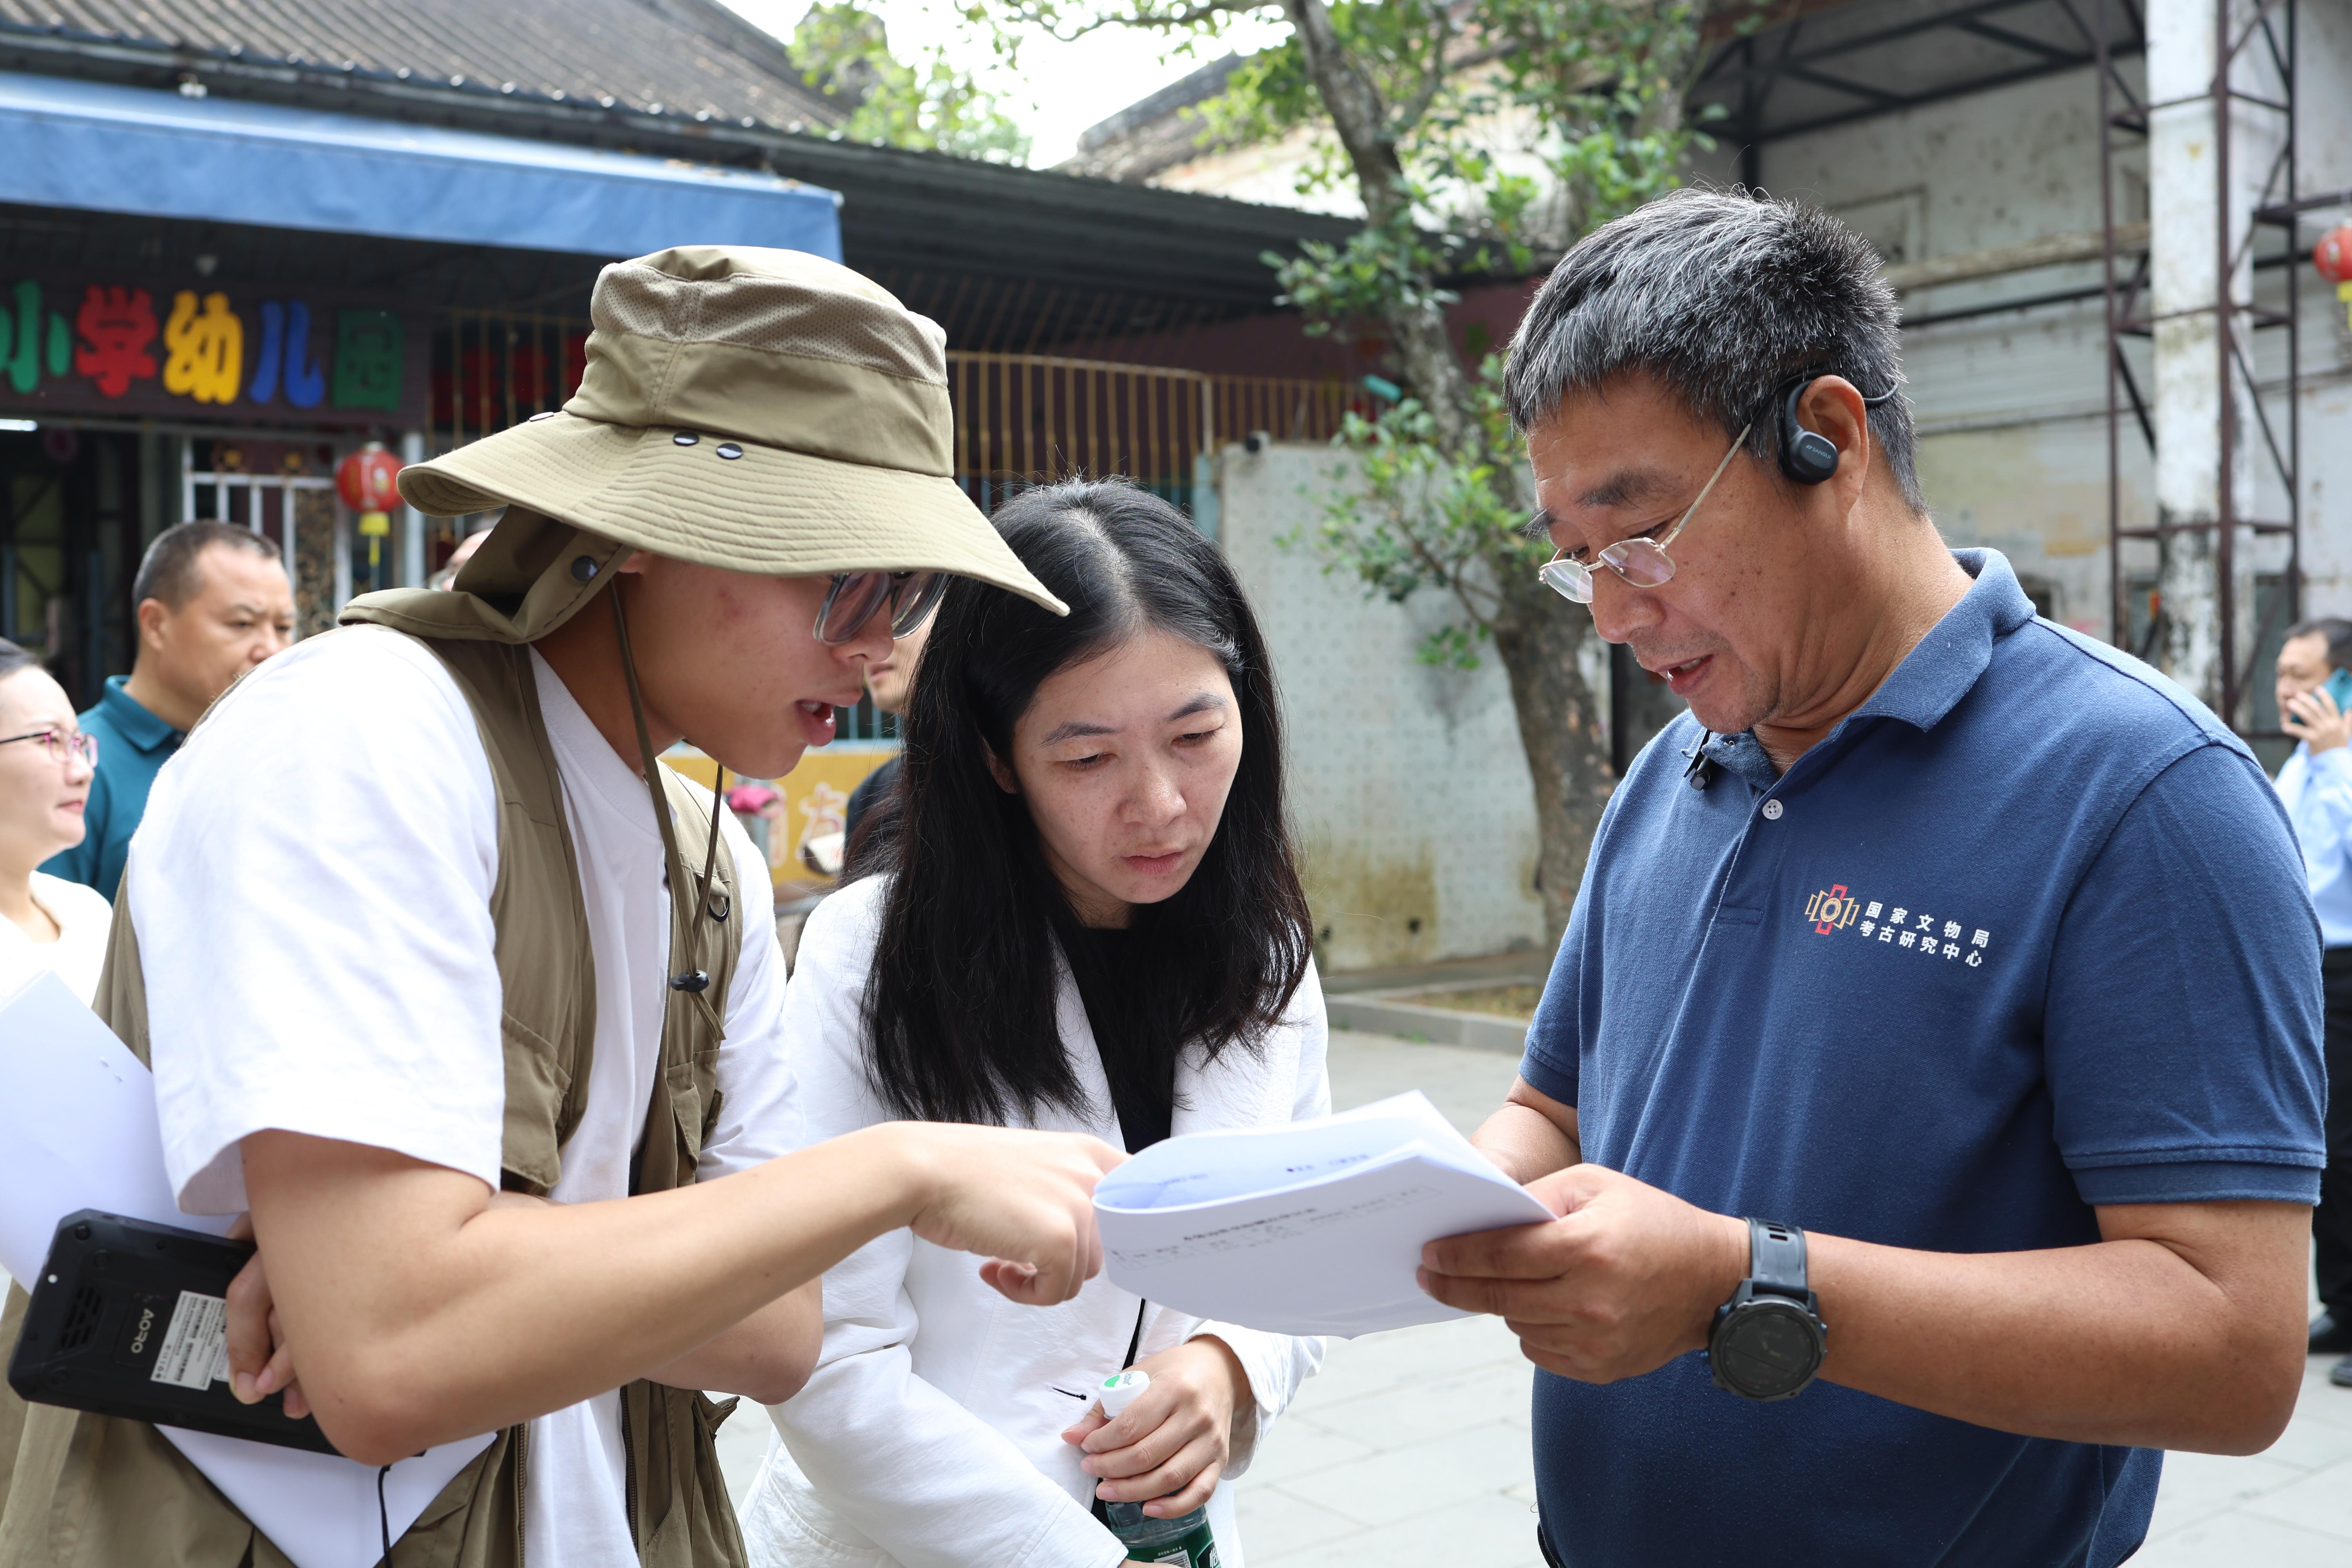
[[[1642, 752], [1522, 1074], [1599, 1166], [1886, 1246], [2317, 1201], [2319, 929], [2277, 795], [2178, 686], [2037, 621], [2002, 555], [1957, 557], [1976, 585], [1785, 776], [1731, 736], [1693, 790], [1689, 715]], [[1748, 1403], [1698, 1354], [1536, 1373], [1534, 1422], [1569, 1568], [2107, 1568], [2161, 1465], [1828, 1382]]]

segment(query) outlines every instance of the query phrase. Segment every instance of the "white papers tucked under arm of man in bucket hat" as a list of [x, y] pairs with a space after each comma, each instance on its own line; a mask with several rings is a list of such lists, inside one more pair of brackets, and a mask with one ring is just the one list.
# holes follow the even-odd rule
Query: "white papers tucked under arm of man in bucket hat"
[[[64, 980], [42, 971], [0, 1001], [0, 1267], [31, 1281], [49, 1258], [56, 1222], [75, 1208], [228, 1229], [226, 1218], [179, 1211], [162, 1168], [155, 1079]], [[158, 1432], [296, 1568], [369, 1568], [383, 1556], [372, 1467], [179, 1427]], [[383, 1483], [393, 1535], [489, 1441], [473, 1436], [393, 1465]]]

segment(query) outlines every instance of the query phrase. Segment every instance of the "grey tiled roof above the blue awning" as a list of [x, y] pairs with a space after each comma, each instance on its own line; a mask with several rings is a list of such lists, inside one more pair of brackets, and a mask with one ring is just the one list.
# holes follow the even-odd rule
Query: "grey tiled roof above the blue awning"
[[0, 0], [9, 33], [687, 122], [840, 118], [779, 40], [715, 0]]

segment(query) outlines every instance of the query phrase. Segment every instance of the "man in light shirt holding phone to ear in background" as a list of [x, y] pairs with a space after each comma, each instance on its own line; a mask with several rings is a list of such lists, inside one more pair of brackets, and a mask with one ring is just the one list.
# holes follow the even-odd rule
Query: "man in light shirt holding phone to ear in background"
[[2319, 912], [2319, 971], [2328, 992], [2328, 1168], [2312, 1211], [2319, 1316], [2312, 1354], [2340, 1354], [2328, 1382], [2352, 1389], [2352, 708], [2328, 677], [2352, 670], [2352, 621], [2288, 628], [2279, 649], [2279, 724], [2298, 738], [2279, 797], [2303, 844]]

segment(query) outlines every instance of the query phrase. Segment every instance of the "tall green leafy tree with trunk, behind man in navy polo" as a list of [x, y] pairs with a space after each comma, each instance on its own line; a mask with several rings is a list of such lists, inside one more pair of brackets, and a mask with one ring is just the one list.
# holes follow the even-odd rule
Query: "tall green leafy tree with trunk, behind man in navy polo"
[[1519, 277], [1677, 183], [1698, 129], [1682, 103], [1698, 61], [1698, 0], [1021, 0], [967, 2], [1000, 28], [1073, 38], [1155, 28], [1214, 42], [1242, 16], [1289, 21], [1202, 108], [1202, 141], [1308, 129], [1303, 190], [1348, 188], [1364, 228], [1277, 266], [1308, 331], [1376, 327], [1404, 397], [1350, 416], [1362, 494], [1312, 529], [1327, 569], [1367, 592], [1451, 599], [1423, 646], [1510, 675], [1536, 785], [1541, 889], [1566, 924], [1613, 776], [1595, 693], [1578, 675], [1585, 611], [1536, 583], [1534, 487], [1503, 416], [1501, 360], [1465, 364], [1446, 322], [1463, 282]]

